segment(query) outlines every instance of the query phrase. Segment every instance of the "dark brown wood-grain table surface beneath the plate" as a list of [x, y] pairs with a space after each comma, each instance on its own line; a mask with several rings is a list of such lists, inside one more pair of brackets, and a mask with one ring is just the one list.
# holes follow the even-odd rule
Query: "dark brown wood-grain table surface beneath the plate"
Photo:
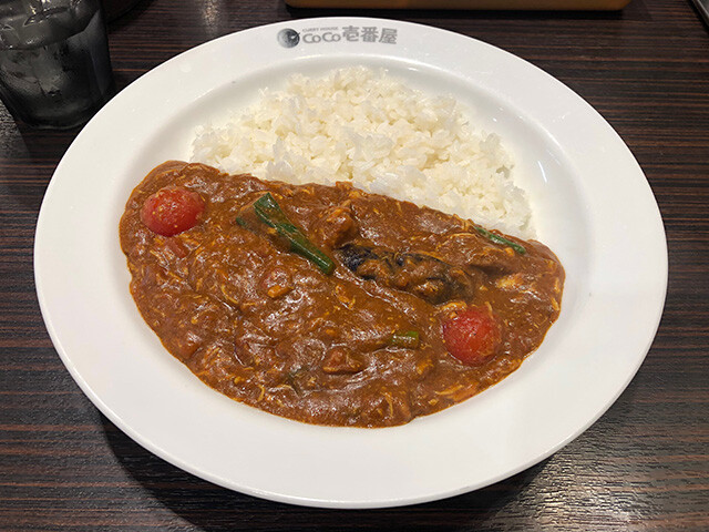
[[331, 14], [420, 22], [500, 47], [616, 129], [653, 187], [669, 246], [665, 314], [639, 372], [556, 454], [453, 499], [335, 511], [213, 485], [133, 442], [64, 369], [40, 315], [32, 245], [47, 184], [78, 132], [31, 131], [0, 106], [0, 530], [709, 530], [709, 34], [690, 1], [535, 13], [143, 0], [109, 28], [116, 83], [229, 32]]

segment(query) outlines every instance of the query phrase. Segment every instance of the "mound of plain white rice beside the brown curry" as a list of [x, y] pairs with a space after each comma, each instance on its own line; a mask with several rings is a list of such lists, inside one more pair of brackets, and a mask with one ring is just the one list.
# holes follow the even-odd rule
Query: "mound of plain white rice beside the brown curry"
[[453, 98], [356, 66], [294, 75], [224, 125], [197, 129], [193, 161], [295, 184], [351, 181], [504, 233], [534, 235], [513, 161]]

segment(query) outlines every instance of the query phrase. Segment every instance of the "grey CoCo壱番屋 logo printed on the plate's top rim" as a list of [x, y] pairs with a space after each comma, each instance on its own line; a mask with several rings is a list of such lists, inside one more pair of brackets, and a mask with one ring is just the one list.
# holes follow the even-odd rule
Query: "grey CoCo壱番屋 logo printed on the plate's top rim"
[[306, 28], [300, 32], [286, 28], [278, 32], [278, 43], [284, 48], [320, 42], [379, 42], [397, 44], [397, 29], [379, 25], [343, 25], [327, 28]]

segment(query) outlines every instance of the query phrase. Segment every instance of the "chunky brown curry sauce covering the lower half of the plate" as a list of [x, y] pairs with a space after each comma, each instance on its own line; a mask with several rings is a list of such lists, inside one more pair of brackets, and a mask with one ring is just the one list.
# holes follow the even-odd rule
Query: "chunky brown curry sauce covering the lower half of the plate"
[[[142, 209], [176, 188], [201, 208], [163, 236]], [[281, 222], [259, 212], [266, 197]], [[133, 191], [120, 237], [133, 298], [172, 355], [230, 398], [318, 424], [402, 424], [499, 382], [541, 345], [564, 284], [534, 241], [347, 183], [182, 162]]]

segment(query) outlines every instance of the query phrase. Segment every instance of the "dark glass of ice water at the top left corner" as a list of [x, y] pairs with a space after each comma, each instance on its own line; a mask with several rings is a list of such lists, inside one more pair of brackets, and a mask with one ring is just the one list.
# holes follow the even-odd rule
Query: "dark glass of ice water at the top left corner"
[[99, 0], [0, 0], [0, 99], [16, 120], [73, 127], [113, 91]]

